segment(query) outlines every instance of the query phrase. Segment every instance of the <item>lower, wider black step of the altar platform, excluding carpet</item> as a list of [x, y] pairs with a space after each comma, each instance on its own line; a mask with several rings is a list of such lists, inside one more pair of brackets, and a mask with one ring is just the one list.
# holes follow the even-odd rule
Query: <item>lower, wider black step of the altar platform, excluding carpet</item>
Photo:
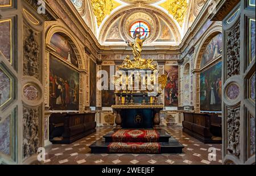
[[[179, 143], [176, 139], [169, 137], [169, 141], [165, 143], [159, 142], [160, 145], [160, 151], [157, 154], [160, 153], [182, 153], [182, 150], [184, 148], [183, 145]], [[109, 151], [109, 145], [111, 143], [108, 143], [105, 141], [105, 139], [98, 140], [92, 145], [90, 145], [90, 149], [92, 150], [92, 153], [136, 153], [136, 152], [110, 152]], [[146, 153], [146, 152], [138, 152], [138, 153]], [[151, 153], [152, 154], [152, 153]], [[154, 153], [153, 153], [154, 154]], [[156, 154], [156, 153], [155, 153]]]

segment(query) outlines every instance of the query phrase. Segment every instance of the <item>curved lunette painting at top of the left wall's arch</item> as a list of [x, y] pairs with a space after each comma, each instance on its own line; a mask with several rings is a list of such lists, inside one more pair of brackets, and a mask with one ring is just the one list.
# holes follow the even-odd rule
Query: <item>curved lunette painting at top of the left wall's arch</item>
[[51, 45], [56, 49], [56, 53], [73, 66], [78, 67], [75, 51], [70, 44], [71, 38], [63, 33], [55, 33], [51, 38]]

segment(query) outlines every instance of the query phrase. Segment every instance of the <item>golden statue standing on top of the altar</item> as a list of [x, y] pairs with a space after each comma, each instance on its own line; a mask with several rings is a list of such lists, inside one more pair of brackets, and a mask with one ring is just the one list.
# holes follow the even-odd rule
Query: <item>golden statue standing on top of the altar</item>
[[127, 42], [128, 46], [131, 46], [131, 49], [133, 50], [134, 60], [138, 61], [141, 60], [141, 51], [142, 51], [142, 45], [143, 42], [147, 39], [147, 35], [144, 38], [141, 38], [140, 34], [137, 34], [134, 38], [134, 42]]

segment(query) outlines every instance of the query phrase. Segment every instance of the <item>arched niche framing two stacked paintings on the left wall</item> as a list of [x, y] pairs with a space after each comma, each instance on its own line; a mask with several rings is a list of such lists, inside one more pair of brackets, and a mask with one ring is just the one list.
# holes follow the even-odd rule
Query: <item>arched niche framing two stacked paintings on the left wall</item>
[[[58, 42], [63, 43], [58, 44]], [[82, 46], [79, 38], [61, 23], [49, 22], [46, 26], [44, 103], [52, 111], [82, 111], [85, 109], [86, 68], [88, 66]], [[61, 101], [58, 98], [59, 93], [55, 91], [56, 89], [59, 91], [60, 85], [61, 89], [66, 91]], [[55, 102], [54, 105], [52, 102]], [[71, 106], [71, 104], [74, 105]]]

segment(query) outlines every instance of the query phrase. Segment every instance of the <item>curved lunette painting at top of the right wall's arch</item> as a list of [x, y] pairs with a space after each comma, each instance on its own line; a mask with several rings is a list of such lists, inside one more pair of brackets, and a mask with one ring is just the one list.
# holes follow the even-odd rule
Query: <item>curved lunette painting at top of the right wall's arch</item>
[[201, 60], [201, 68], [208, 65], [208, 63], [214, 61], [222, 54], [222, 33], [219, 33], [217, 36], [213, 37], [212, 40], [208, 43], [203, 58]]

